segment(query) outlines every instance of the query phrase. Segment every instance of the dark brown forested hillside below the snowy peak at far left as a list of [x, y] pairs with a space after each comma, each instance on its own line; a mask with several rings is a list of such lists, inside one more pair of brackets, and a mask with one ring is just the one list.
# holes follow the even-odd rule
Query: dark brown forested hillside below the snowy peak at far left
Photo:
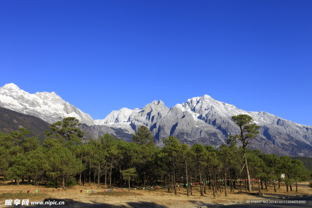
[[0, 132], [9, 133], [10, 131], [17, 131], [18, 128], [27, 128], [31, 132], [27, 137], [38, 137], [40, 143], [43, 143], [45, 138], [43, 132], [50, 130], [50, 125], [35, 116], [0, 107]]

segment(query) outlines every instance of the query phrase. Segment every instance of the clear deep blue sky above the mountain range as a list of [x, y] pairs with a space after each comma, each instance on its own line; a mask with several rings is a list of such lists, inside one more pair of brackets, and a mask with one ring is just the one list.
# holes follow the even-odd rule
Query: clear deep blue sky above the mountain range
[[93, 119], [208, 94], [312, 126], [312, 1], [0, 1], [0, 85]]

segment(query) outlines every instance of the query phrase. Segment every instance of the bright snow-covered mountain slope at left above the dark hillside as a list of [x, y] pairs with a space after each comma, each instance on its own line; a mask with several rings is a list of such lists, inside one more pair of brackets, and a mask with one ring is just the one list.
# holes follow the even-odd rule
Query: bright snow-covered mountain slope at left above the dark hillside
[[30, 94], [19, 89], [13, 83], [0, 87], [0, 106], [19, 113], [36, 116], [48, 123], [54, 123], [66, 117], [75, 117], [81, 123], [95, 124], [89, 114], [85, 114], [69, 104], [55, 92]]

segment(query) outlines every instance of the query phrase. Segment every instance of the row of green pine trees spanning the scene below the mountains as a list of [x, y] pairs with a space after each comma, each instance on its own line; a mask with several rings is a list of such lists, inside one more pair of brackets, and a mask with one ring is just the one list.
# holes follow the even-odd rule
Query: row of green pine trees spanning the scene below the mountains
[[[208, 145], [194, 144], [189, 147], [176, 137], [163, 138], [163, 148], [155, 147], [153, 136], [146, 126], [141, 126], [133, 136], [133, 142], [105, 134], [98, 139], [90, 139], [84, 144], [84, 133], [77, 126], [76, 118], [68, 117], [53, 123], [51, 131], [46, 131], [43, 145], [37, 138], [26, 138], [29, 131], [20, 128], [10, 134], [0, 133], [0, 174], [3, 180], [20, 181], [38, 185], [43, 181], [66, 183], [78, 181], [79, 185], [100, 184], [117, 187], [168, 186], [168, 191], [177, 194], [180, 186], [199, 181], [201, 195], [212, 189], [230, 191], [242, 187], [242, 182], [227, 179], [247, 179], [245, 188], [254, 191], [251, 178], [268, 183], [283, 181], [287, 191], [291, 184], [309, 181], [311, 173], [299, 160], [288, 156], [261, 154], [260, 150], [249, 150], [247, 145], [256, 137], [259, 126], [252, 123], [247, 115], [232, 117], [240, 128], [239, 135], [229, 136], [227, 145], [218, 149]], [[240, 146], [239, 146], [240, 145]], [[245, 170], [244, 170], [245, 169]], [[217, 180], [225, 180], [217, 181]], [[278, 183], [280, 188], [280, 183]], [[55, 184], [56, 185], [56, 184]], [[187, 195], [192, 194], [192, 186], [185, 186]]]

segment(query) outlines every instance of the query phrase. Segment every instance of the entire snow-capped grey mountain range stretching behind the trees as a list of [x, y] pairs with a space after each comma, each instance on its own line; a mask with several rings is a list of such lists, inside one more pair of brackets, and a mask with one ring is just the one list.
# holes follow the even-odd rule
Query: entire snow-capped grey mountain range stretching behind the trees
[[[185, 103], [168, 108], [153, 101], [142, 109], [114, 110], [105, 119], [93, 120], [75, 106], [52, 93], [29, 94], [14, 84], [0, 88], [0, 106], [24, 114], [34, 115], [48, 123], [65, 117], [76, 117], [84, 125], [87, 138], [109, 133], [131, 141], [132, 134], [146, 125], [158, 146], [162, 138], [176, 136], [182, 143], [202, 143], [218, 147], [226, 142], [228, 134], [239, 133], [231, 120], [233, 115], [248, 114], [261, 126], [251, 148], [277, 155], [312, 157], [312, 127], [282, 119], [266, 112], [246, 112], [208, 95], [188, 99]], [[87, 125], [85, 125], [87, 124]]]

